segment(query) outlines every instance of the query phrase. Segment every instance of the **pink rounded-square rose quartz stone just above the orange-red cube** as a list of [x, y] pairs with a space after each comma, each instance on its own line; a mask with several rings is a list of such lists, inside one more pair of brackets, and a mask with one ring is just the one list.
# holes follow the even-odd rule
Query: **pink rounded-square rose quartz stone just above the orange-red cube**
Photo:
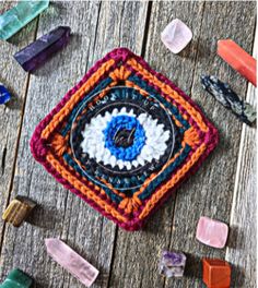
[[201, 243], [214, 248], [224, 248], [228, 235], [226, 224], [208, 217], [200, 217], [196, 238]]

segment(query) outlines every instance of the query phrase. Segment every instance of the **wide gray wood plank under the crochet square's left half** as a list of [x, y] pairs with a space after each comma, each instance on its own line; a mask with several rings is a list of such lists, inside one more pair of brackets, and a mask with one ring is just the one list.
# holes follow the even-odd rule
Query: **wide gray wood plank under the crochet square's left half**
[[101, 269], [93, 287], [107, 287], [116, 226], [56, 183], [32, 158], [28, 141], [39, 120], [107, 50], [124, 45], [140, 52], [146, 7], [140, 2], [55, 2], [54, 12], [39, 21], [38, 36], [60, 24], [70, 25], [75, 35], [31, 77], [12, 196], [28, 195], [40, 207], [31, 224], [7, 227], [2, 278], [19, 266], [36, 278], [36, 287], [84, 287], [46, 255], [44, 238], [61, 237]]

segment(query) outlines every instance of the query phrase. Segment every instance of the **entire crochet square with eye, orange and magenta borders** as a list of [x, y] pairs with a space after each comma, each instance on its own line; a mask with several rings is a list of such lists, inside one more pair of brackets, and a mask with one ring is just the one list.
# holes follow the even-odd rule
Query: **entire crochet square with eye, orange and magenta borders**
[[215, 128], [184, 92], [119, 48], [38, 124], [31, 149], [71, 192], [137, 230], [216, 143]]

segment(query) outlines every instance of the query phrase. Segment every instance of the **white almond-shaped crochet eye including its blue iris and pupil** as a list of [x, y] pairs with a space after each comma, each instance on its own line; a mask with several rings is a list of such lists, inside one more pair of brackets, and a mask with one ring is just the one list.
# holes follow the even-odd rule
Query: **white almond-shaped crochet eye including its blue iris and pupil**
[[[157, 121], [146, 112], [137, 116], [133, 109], [128, 112], [126, 108], [114, 108], [85, 124], [80, 146], [96, 163], [112, 168], [136, 169], [153, 159], [159, 160], [167, 148], [171, 131]], [[122, 145], [118, 143], [118, 134], [122, 135], [121, 139], [127, 135], [128, 145], [124, 145], [125, 141]]]

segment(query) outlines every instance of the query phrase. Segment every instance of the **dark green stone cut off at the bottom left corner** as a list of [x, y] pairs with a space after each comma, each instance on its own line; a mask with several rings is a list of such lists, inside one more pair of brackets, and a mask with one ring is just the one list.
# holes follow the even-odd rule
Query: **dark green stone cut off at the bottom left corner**
[[32, 288], [34, 280], [21, 269], [13, 269], [0, 288]]

